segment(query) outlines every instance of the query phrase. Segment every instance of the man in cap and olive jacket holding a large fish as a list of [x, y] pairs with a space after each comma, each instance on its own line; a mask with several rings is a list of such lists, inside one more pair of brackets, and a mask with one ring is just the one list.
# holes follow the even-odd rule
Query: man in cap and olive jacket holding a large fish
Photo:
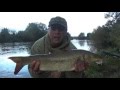
[[[37, 40], [32, 48], [31, 54], [48, 54], [55, 51], [71, 50], [76, 47], [70, 42], [70, 36], [67, 33], [67, 22], [62, 17], [51, 18], [48, 25], [48, 33]], [[33, 61], [29, 66], [29, 72], [35, 78], [77, 78], [81, 77], [81, 72], [85, 69], [83, 62], [76, 63], [76, 70], [73, 72], [48, 72], [39, 70], [40, 63]]]

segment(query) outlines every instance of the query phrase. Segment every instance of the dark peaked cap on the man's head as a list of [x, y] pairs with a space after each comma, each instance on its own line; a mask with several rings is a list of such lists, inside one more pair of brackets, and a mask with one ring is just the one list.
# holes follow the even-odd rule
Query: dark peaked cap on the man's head
[[50, 27], [53, 25], [63, 26], [67, 30], [67, 21], [62, 17], [57, 16], [57, 17], [51, 18], [48, 26]]

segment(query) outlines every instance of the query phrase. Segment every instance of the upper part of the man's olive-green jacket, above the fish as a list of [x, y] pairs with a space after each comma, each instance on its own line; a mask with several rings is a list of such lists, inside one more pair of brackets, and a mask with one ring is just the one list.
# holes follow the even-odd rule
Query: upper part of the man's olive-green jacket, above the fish
[[43, 53], [49, 53], [54, 52], [56, 50], [70, 50], [70, 49], [76, 49], [76, 47], [70, 42], [69, 36], [66, 36], [63, 43], [57, 47], [52, 48], [50, 45], [50, 39], [48, 34], [46, 34], [41, 39], [37, 40], [34, 45], [31, 48], [31, 54], [43, 54]]

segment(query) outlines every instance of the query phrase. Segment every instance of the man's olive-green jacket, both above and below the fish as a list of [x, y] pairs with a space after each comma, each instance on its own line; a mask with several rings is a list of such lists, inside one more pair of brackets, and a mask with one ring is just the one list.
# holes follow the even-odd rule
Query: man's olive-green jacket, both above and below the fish
[[[48, 34], [46, 34], [44, 37], [42, 37], [41, 39], [37, 40], [32, 48], [31, 48], [31, 54], [47, 54], [49, 52], [55, 52], [57, 50], [71, 50], [71, 49], [76, 49], [76, 47], [71, 43], [70, 41], [70, 37], [66, 36], [66, 38], [64, 39], [63, 43], [61, 44], [61, 46], [57, 47], [57, 48], [52, 48], [50, 45], [50, 39]], [[41, 71], [38, 74], [35, 74], [33, 72], [31, 72], [31, 68], [30, 65], [28, 66], [28, 70], [30, 72], [30, 75], [32, 77], [35, 78], [49, 78], [50, 76], [50, 72], [46, 72], [46, 71]], [[79, 77], [80, 75], [78, 73], [75, 72], [64, 72], [62, 74], [61, 77]]]

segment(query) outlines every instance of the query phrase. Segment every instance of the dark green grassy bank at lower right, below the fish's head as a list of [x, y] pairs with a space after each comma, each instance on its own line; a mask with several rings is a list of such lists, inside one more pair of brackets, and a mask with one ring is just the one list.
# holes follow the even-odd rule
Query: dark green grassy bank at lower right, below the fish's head
[[120, 78], [120, 59], [107, 57], [102, 65], [91, 63], [85, 70], [86, 78]]

